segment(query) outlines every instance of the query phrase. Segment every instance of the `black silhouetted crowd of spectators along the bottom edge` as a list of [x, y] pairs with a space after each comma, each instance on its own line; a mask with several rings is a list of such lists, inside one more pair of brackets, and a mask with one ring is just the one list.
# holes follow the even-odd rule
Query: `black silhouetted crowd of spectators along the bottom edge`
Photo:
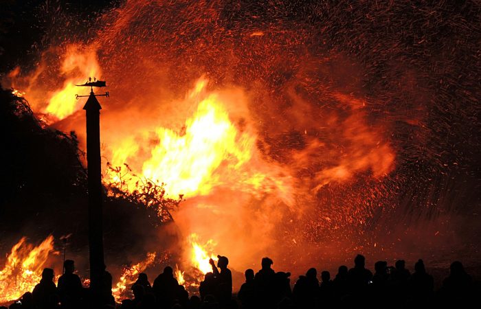
[[[175, 279], [172, 267], [164, 268], [152, 285], [145, 273], [140, 273], [131, 286], [133, 299], [115, 304], [111, 293], [111, 276], [106, 271], [103, 304], [87, 302], [88, 289], [82, 288], [74, 274], [74, 261], [65, 261], [65, 273], [54, 284], [54, 271], [45, 268], [41, 282], [32, 293], [25, 293], [10, 309], [317, 309], [317, 308], [481, 308], [480, 287], [475, 284], [460, 262], [453, 262], [449, 276], [434, 290], [434, 279], [426, 272], [423, 260], [414, 265], [414, 273], [405, 268], [405, 261], [395, 266], [378, 261], [374, 274], [366, 268], [363, 255], [357, 255], [353, 268], [339, 266], [333, 279], [322, 271], [310, 268], [291, 288], [291, 273], [274, 271], [270, 258], [262, 258], [261, 269], [245, 271], [245, 283], [237, 295], [232, 295], [232, 273], [229, 260], [218, 256], [217, 264], [210, 260], [212, 272], [205, 274], [199, 286], [199, 296], [189, 297], [183, 285]], [[110, 284], [110, 286], [109, 286]], [[0, 307], [5, 309], [6, 307]]]

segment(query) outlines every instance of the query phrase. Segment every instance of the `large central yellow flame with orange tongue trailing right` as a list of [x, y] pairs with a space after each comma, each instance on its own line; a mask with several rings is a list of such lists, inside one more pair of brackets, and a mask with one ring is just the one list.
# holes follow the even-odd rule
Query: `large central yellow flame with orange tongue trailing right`
[[[150, 148], [150, 155], [140, 164], [142, 172], [135, 172], [165, 183], [166, 191], [173, 196], [206, 196], [214, 187], [230, 185], [251, 192], [261, 187], [267, 191], [278, 190], [288, 198], [290, 189], [284, 179], [273, 175], [268, 168], [263, 170], [258, 165], [259, 168], [252, 169], [247, 165], [256, 160], [256, 134], [252, 130], [238, 130], [220, 95], [205, 91], [207, 84], [208, 80], [199, 79], [188, 94], [188, 104], [197, 105], [197, 111], [186, 119], [181, 132], [155, 128], [153, 135], [158, 144]], [[121, 166], [135, 160], [141, 147], [146, 146], [139, 146], [139, 139], [148, 136], [152, 139], [151, 133], [143, 132], [140, 138], [127, 136], [116, 141], [111, 163]], [[120, 179], [113, 175], [109, 181]], [[136, 181], [127, 181], [129, 190], [135, 187]]]

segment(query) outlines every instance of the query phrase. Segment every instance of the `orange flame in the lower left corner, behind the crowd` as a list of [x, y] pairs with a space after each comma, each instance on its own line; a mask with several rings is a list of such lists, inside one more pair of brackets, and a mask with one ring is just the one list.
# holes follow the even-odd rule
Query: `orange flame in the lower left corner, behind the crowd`
[[49, 254], [56, 254], [52, 235], [37, 247], [26, 241], [27, 238], [23, 237], [12, 247], [5, 266], [0, 271], [0, 304], [31, 292], [40, 282]]

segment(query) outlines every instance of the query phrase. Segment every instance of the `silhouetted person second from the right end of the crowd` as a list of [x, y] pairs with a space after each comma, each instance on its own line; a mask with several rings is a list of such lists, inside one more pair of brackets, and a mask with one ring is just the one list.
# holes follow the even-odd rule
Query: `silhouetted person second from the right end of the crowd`
[[413, 308], [425, 308], [432, 299], [434, 279], [426, 273], [423, 260], [419, 259], [414, 264], [414, 273], [409, 282], [410, 306]]

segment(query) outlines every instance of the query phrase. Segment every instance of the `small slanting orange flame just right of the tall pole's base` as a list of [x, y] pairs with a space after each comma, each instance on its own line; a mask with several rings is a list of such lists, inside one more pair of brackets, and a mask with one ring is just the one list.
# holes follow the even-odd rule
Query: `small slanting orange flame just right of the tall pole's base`
[[115, 287], [112, 288], [112, 295], [115, 297], [115, 301], [120, 302], [121, 297], [131, 296], [130, 288], [132, 284], [134, 284], [137, 280], [139, 273], [142, 273], [148, 266], [153, 264], [155, 261], [155, 255], [155, 252], [149, 252], [147, 253], [147, 258], [144, 261], [124, 268], [119, 281], [117, 284], [115, 284]]

